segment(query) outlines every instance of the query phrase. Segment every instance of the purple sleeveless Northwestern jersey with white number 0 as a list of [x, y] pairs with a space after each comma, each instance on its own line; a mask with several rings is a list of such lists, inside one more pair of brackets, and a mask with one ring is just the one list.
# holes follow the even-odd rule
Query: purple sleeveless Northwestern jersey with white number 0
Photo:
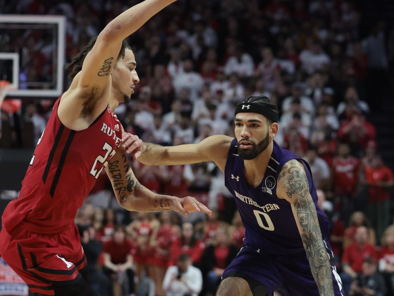
[[276, 195], [276, 183], [283, 165], [297, 159], [304, 165], [309, 192], [315, 203], [323, 239], [328, 235], [329, 222], [317, 205], [317, 194], [307, 162], [275, 141], [265, 175], [261, 184], [251, 188], [243, 173], [243, 159], [238, 156], [236, 139], [231, 142], [225, 168], [226, 187], [235, 203], [245, 226], [245, 245], [261, 249], [268, 254], [296, 254], [304, 251], [290, 203]]

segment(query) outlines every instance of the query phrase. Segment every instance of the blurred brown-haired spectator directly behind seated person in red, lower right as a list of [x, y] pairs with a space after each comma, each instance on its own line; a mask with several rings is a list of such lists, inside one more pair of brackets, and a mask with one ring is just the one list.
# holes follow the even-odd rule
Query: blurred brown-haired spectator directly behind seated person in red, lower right
[[365, 226], [368, 230], [368, 243], [370, 243], [371, 245], [376, 244], [375, 230], [371, 226], [369, 220], [365, 217], [365, 214], [362, 212], [354, 212], [350, 216], [349, 226], [345, 229], [343, 248], [346, 248], [347, 246], [355, 242], [356, 230], [360, 226]]

